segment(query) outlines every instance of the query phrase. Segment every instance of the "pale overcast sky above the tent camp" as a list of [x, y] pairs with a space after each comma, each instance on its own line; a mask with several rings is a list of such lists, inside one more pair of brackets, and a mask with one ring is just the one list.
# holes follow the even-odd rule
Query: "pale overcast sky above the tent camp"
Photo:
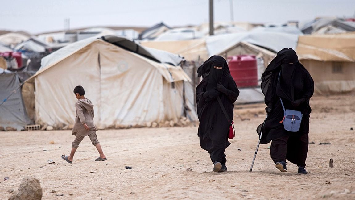
[[[208, 0], [1, 0], [0, 29], [40, 33], [87, 26], [169, 26], [208, 22]], [[233, 0], [234, 21], [354, 17], [355, 0]], [[230, 21], [230, 0], [214, 0], [215, 21]]]

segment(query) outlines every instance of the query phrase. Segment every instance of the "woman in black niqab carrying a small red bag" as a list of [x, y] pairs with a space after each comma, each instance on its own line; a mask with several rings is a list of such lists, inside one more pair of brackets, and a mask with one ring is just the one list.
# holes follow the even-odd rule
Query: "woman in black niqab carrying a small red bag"
[[225, 149], [230, 145], [226, 119], [218, 101], [219, 97], [230, 119], [233, 119], [234, 102], [239, 90], [230, 75], [229, 67], [222, 56], [214, 55], [198, 67], [201, 83], [196, 88], [197, 114], [200, 120], [198, 137], [200, 146], [208, 151], [214, 164], [214, 172], [227, 170]]

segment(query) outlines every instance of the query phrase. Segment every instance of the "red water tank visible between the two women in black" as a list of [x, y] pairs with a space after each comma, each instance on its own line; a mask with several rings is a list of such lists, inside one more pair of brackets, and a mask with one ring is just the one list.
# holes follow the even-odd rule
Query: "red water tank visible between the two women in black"
[[258, 86], [258, 67], [255, 55], [235, 55], [228, 57], [228, 66], [238, 87]]

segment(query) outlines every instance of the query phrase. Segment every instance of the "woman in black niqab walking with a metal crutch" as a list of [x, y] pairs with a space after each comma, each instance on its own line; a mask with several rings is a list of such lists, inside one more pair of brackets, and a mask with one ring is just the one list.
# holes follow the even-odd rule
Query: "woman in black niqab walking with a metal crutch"
[[[280, 171], [286, 171], [286, 159], [306, 174], [309, 118], [312, 111], [309, 101], [314, 82], [306, 68], [298, 61], [293, 49], [283, 49], [271, 61], [261, 77], [261, 89], [265, 95], [268, 117], [262, 127], [261, 144], [270, 141], [270, 155]], [[303, 114], [300, 130], [286, 131], [280, 123], [285, 109], [298, 110]]]

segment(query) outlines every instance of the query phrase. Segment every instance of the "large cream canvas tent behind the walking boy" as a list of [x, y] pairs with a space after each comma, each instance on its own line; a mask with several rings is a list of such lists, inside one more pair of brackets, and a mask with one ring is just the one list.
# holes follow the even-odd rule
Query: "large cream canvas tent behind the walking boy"
[[100, 129], [176, 123], [186, 107], [183, 87], [190, 79], [181, 67], [159, 63], [124, 38], [81, 40], [43, 58], [41, 68], [29, 82], [35, 84], [35, 120], [43, 125], [73, 124], [77, 85], [93, 102]]

